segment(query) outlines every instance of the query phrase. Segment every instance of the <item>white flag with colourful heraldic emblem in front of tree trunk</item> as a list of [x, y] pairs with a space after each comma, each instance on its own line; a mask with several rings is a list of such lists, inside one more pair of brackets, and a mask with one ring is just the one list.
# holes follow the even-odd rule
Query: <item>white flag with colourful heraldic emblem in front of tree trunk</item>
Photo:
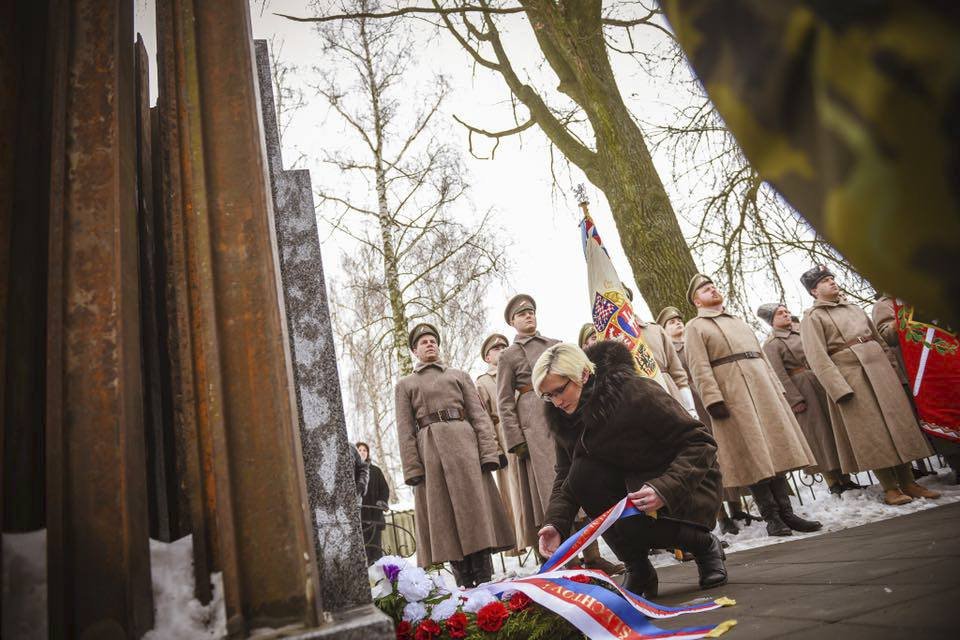
[[619, 340], [627, 346], [637, 364], [637, 371], [653, 378], [667, 388], [660, 367], [653, 359], [650, 347], [643, 340], [640, 324], [633, 314], [633, 305], [627, 297], [623, 281], [610, 260], [597, 226], [587, 209], [589, 204], [582, 186], [577, 190], [583, 221], [580, 223], [583, 256], [587, 261], [587, 284], [593, 311], [593, 326], [600, 340]]

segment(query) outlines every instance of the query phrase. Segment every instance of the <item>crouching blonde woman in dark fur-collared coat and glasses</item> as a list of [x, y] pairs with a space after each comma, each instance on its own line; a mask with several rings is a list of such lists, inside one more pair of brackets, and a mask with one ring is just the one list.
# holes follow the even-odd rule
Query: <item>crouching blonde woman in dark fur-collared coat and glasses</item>
[[710, 533], [722, 495], [717, 444], [703, 423], [640, 376], [614, 340], [586, 352], [564, 343], [548, 348], [534, 365], [533, 386], [546, 403], [557, 457], [540, 552], [549, 556], [571, 533], [579, 507], [596, 518], [628, 495], [644, 515], [603, 534], [627, 566], [626, 589], [656, 595], [651, 548], [694, 554], [703, 589], [725, 584], [723, 551]]

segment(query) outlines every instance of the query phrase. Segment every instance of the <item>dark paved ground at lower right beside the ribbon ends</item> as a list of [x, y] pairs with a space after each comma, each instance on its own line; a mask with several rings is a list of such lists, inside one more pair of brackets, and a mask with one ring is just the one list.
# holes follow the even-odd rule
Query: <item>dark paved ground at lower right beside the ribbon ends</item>
[[727, 569], [727, 585], [701, 592], [692, 562], [661, 568], [657, 602], [737, 605], [658, 626], [734, 618], [730, 640], [960, 638], [960, 504], [733, 553]]

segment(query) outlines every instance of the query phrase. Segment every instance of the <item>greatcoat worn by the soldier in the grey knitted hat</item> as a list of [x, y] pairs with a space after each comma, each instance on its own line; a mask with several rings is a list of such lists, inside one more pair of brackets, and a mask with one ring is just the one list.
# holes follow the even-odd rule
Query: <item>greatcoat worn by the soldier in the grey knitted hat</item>
[[763, 343], [763, 351], [786, 392], [791, 407], [804, 403], [806, 409], [798, 414], [797, 422], [807, 438], [807, 444], [817, 459], [816, 471], [840, 469], [837, 441], [830, 426], [830, 402], [817, 376], [810, 370], [803, 354], [800, 332], [793, 329], [774, 329]]

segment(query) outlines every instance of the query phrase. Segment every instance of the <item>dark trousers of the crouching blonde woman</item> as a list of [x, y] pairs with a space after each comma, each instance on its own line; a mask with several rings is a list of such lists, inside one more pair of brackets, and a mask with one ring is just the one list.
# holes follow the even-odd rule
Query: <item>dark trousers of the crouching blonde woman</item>
[[[568, 487], [590, 518], [596, 518], [643, 483], [632, 479], [589, 456], [578, 457], [567, 474]], [[697, 530], [693, 525], [651, 518], [645, 515], [619, 520], [603, 534], [603, 539], [622, 562], [647, 557], [650, 549], [683, 548], [683, 530]]]

